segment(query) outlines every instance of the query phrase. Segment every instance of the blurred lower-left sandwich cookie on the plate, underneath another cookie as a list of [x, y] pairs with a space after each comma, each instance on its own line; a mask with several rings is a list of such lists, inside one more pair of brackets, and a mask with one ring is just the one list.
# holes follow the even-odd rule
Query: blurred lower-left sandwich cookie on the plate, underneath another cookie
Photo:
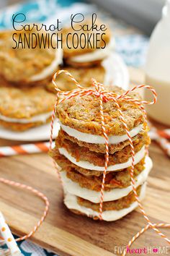
[[0, 125], [24, 131], [50, 122], [55, 95], [40, 87], [0, 88]]

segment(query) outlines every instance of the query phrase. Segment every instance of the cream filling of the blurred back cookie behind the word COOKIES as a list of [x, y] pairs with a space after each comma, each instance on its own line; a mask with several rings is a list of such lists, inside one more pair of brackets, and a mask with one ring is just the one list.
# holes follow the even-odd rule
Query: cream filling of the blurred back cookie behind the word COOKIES
[[73, 56], [71, 57], [71, 61], [82, 63], [82, 62], [97, 61], [100, 59], [105, 59], [114, 50], [114, 48], [115, 48], [115, 39], [112, 38], [105, 48], [97, 49], [88, 54]]

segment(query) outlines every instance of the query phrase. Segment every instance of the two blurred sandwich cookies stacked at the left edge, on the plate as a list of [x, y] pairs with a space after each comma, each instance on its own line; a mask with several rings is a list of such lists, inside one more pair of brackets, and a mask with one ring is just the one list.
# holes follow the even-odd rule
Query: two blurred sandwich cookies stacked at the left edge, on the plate
[[[55, 95], [45, 86], [63, 63], [63, 50], [48, 46], [48, 40], [43, 41], [45, 45], [28, 45], [30, 41], [36, 45], [29, 38], [38, 36], [37, 30], [20, 32], [14, 33], [15, 41], [20, 42], [17, 47], [12, 30], [0, 33], [0, 125], [17, 132], [50, 122]], [[45, 38], [47, 33], [41, 33]], [[27, 38], [28, 44], [20, 37]]]

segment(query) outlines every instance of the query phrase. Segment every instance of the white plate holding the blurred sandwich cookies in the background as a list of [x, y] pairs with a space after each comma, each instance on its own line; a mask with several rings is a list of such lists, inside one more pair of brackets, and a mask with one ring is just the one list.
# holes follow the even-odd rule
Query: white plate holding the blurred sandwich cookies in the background
[[[111, 54], [108, 59], [103, 61], [103, 66], [107, 70], [104, 85], [117, 85], [127, 90], [129, 85], [128, 69], [118, 54]], [[53, 129], [53, 139], [57, 137], [59, 124], [55, 120]], [[40, 141], [50, 139], [50, 124], [35, 127], [25, 132], [13, 132], [0, 127], [0, 138], [6, 140], [20, 141]]]

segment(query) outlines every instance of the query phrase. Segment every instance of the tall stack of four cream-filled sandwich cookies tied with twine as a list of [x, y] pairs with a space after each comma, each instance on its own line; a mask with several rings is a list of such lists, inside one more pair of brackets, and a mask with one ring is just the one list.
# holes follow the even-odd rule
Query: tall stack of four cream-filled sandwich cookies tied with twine
[[[113, 92], [122, 94], [124, 90], [114, 87]], [[136, 93], [128, 95], [138, 97]], [[150, 144], [146, 121], [136, 103], [121, 98], [117, 101], [133, 140], [135, 188], [138, 197], [143, 200], [146, 180], [152, 168], [151, 158], [146, 153]], [[103, 101], [103, 112], [109, 137], [109, 163], [104, 183], [102, 219], [115, 221], [138, 207], [138, 202], [130, 182], [130, 142], [115, 102]], [[61, 167], [64, 203], [74, 213], [97, 219], [106, 156], [99, 98], [76, 95], [58, 104], [56, 116], [61, 130], [50, 154]]]

